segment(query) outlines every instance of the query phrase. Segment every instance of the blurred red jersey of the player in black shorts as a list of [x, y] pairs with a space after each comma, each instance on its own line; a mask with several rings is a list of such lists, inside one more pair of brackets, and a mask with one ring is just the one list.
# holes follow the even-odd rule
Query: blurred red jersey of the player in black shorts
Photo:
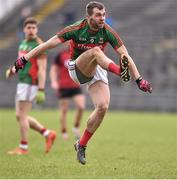
[[76, 84], [69, 76], [68, 62], [71, 60], [69, 51], [60, 52], [55, 58], [54, 64], [59, 68], [59, 87], [60, 88], [78, 88], [79, 84]]

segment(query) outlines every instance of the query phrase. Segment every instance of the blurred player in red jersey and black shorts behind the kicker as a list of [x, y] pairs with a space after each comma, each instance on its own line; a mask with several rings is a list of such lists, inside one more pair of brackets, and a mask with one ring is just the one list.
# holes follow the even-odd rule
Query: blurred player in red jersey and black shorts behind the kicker
[[75, 83], [69, 76], [68, 63], [71, 60], [69, 48], [64, 47], [56, 56], [50, 69], [51, 87], [56, 91], [59, 98], [60, 124], [63, 139], [68, 139], [67, 133], [67, 111], [69, 101], [73, 99], [76, 106], [76, 116], [72, 131], [78, 139], [80, 137], [80, 123], [85, 107], [85, 97], [80, 85]]

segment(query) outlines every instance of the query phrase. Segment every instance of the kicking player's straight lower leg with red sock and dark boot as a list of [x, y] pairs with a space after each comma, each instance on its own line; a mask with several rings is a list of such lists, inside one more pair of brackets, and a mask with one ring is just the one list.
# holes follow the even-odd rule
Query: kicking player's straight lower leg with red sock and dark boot
[[92, 98], [93, 104], [95, 105], [95, 110], [90, 115], [87, 122], [87, 128], [82, 134], [80, 140], [77, 141], [74, 145], [75, 150], [77, 152], [77, 159], [81, 164], [86, 163], [86, 145], [92, 137], [93, 133], [98, 129], [101, 122], [103, 121], [110, 101], [109, 87], [104, 82], [97, 81], [94, 84], [92, 84], [88, 90]]

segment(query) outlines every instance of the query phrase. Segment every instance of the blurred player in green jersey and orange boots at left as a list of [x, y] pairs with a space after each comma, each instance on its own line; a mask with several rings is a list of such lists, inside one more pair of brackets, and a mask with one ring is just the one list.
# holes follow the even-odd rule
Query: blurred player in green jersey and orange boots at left
[[[21, 57], [42, 43], [37, 36], [37, 22], [33, 18], [27, 18], [24, 22], [25, 39], [19, 46], [18, 56]], [[45, 81], [46, 81], [46, 54], [29, 59], [25, 68], [19, 70], [19, 82], [16, 91], [16, 118], [20, 126], [20, 145], [18, 148], [8, 152], [8, 154], [27, 154], [28, 153], [28, 130], [41, 133], [46, 139], [45, 152], [49, 152], [55, 140], [56, 133], [46, 129], [34, 117], [28, 116], [32, 108], [32, 102], [42, 103], [45, 100]]]

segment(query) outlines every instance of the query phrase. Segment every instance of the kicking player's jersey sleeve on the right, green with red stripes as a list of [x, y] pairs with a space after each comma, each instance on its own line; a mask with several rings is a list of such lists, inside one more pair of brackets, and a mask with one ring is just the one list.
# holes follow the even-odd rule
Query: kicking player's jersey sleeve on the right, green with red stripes
[[110, 26], [105, 25], [107, 32], [107, 40], [114, 49], [119, 48], [123, 45], [123, 42], [116, 31], [114, 31]]

